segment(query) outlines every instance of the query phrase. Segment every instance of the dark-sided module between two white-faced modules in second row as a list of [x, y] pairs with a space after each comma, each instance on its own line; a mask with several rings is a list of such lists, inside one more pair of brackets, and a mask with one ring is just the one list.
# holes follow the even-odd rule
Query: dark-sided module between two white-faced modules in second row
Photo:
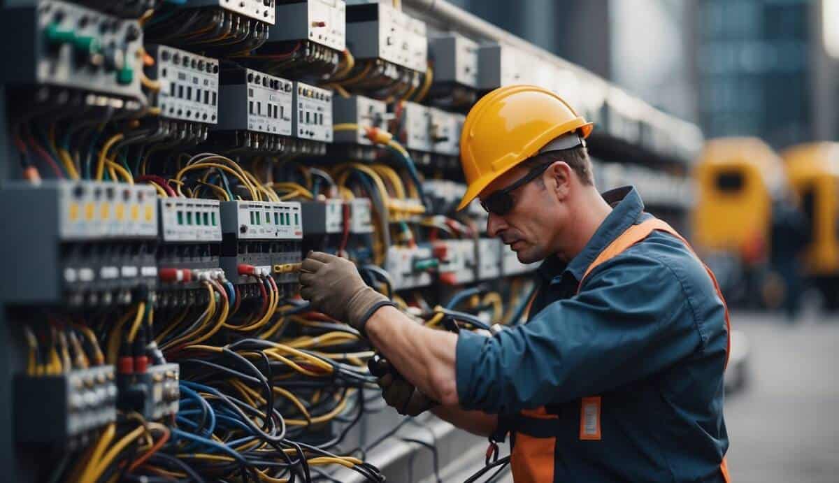
[[291, 136], [292, 84], [253, 69], [223, 71], [216, 129]]

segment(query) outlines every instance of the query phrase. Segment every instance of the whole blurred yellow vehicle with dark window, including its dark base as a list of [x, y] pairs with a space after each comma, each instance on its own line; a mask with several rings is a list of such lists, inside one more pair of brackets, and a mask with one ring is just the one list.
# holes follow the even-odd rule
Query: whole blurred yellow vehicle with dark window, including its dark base
[[[729, 304], [763, 307], [773, 205], [784, 194], [781, 158], [758, 138], [716, 138], [695, 168], [696, 249], [717, 274]], [[771, 292], [771, 290], [770, 290]]]

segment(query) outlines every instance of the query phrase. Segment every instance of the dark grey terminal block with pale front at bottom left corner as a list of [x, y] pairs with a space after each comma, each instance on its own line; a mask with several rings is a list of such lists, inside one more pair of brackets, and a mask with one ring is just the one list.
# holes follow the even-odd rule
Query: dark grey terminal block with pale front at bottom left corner
[[113, 366], [51, 376], [14, 378], [14, 432], [18, 443], [80, 448], [96, 429], [117, 419]]

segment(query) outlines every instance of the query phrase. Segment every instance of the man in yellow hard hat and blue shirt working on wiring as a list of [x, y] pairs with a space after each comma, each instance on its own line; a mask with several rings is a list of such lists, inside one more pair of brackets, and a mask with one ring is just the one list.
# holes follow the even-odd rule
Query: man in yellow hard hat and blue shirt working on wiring
[[[632, 187], [594, 186], [592, 124], [559, 96], [507, 86], [466, 117], [461, 163], [487, 233], [545, 260], [529, 321], [487, 336], [414, 323], [344, 258], [312, 252], [302, 295], [388, 359], [388, 403], [511, 435], [517, 483], [728, 481], [728, 313], [717, 283]], [[404, 378], [403, 378], [404, 377]], [[415, 389], [414, 389], [415, 388]]]

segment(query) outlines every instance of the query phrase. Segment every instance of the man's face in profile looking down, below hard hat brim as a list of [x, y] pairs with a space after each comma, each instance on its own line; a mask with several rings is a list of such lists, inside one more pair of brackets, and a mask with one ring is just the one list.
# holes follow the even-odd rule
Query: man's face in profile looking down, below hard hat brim
[[[482, 191], [481, 200], [515, 183], [528, 172], [529, 169], [521, 165], [510, 169]], [[501, 238], [516, 252], [519, 262], [538, 262], [556, 252], [557, 237], [561, 236], [569, 217], [556, 185], [551, 166], [544, 174], [511, 193], [512, 210], [504, 215], [489, 214], [487, 234]]]

